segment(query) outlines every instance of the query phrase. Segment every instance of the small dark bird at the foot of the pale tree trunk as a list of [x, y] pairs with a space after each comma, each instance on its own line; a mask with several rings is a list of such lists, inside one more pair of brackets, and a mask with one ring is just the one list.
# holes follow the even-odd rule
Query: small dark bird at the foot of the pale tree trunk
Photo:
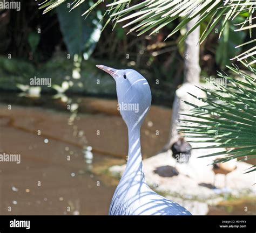
[[177, 142], [171, 146], [172, 157], [176, 159], [178, 163], [188, 163], [191, 157], [191, 145], [185, 142], [183, 137], [179, 137]]

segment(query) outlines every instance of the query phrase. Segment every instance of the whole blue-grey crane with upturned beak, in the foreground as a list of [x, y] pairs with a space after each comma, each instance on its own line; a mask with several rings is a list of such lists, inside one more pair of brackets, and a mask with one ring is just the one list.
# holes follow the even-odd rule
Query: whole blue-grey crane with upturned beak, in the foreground
[[151, 105], [146, 79], [133, 69], [97, 65], [116, 81], [120, 114], [128, 129], [127, 165], [114, 192], [109, 215], [191, 215], [184, 207], [154, 192], [146, 183], [140, 151], [140, 126]]

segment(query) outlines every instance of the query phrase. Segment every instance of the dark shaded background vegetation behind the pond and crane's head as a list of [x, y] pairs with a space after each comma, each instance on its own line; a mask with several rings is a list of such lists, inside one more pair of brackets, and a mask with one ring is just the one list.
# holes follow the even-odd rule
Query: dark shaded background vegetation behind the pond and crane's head
[[[53, 2], [55, 1], [48, 1], [46, 4]], [[75, 6], [74, 2], [82, 4], [68, 12]], [[38, 10], [37, 2], [31, 1], [22, 3], [21, 11], [1, 10], [0, 24], [3, 30], [0, 33], [0, 53], [11, 53], [17, 59], [28, 59], [36, 67], [42, 66], [57, 54], [64, 53], [63, 56], [66, 57], [66, 51], [71, 56], [78, 54], [86, 60], [91, 56], [91, 59], [110, 61], [117, 67], [133, 67], [145, 74], [159, 98], [171, 101], [174, 90], [183, 82], [184, 41], [181, 38], [186, 32], [185, 24], [169, 39], [164, 39], [183, 22], [183, 18], [177, 17], [150, 36], [150, 33], [144, 33], [137, 37], [137, 32], [130, 32], [129, 27], [122, 27], [127, 20], [116, 24], [114, 30], [114, 22], [105, 25], [109, 21], [108, 17], [103, 17], [107, 9], [105, 2], [99, 4], [84, 19], [81, 15], [95, 2], [66, 1], [44, 15], [42, 10]], [[128, 1], [123, 2], [126, 4]], [[132, 4], [139, 2], [134, 0]], [[73, 4], [68, 5], [69, 3]], [[235, 18], [234, 23], [242, 22], [245, 17], [245, 13], [240, 15]], [[201, 35], [211, 18], [209, 15], [201, 22]], [[202, 77], [214, 76], [220, 69], [226, 70], [225, 65], [231, 64], [231, 58], [248, 49], [248, 46], [238, 49], [235, 46], [247, 41], [250, 32], [246, 30], [234, 33], [233, 29], [238, 26], [230, 23], [225, 24], [223, 37], [218, 40], [224, 20], [220, 19], [215, 30], [200, 45]], [[105, 29], [100, 32], [103, 26]], [[239, 63], [237, 65], [240, 66]], [[1, 66], [8, 69], [6, 62]], [[158, 84], [156, 80], [159, 80]]]

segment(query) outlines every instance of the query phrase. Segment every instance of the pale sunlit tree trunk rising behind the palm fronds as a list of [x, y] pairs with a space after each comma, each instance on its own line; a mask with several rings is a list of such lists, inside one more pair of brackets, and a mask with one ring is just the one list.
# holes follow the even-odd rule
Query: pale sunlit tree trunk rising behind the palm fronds
[[[197, 22], [199, 16], [187, 23], [187, 31], [193, 27]], [[172, 107], [172, 122], [168, 142], [164, 146], [164, 151], [169, 150], [171, 145], [176, 142], [179, 135], [177, 132], [177, 119], [187, 119], [188, 117], [179, 114], [189, 114], [191, 109], [189, 105], [183, 101], [188, 101], [198, 104], [199, 101], [194, 99], [188, 93], [193, 93], [200, 96], [201, 92], [194, 84], [199, 83], [200, 66], [199, 66], [199, 37], [200, 27], [197, 27], [185, 39], [185, 53], [184, 53], [184, 83], [176, 90], [173, 107]]]

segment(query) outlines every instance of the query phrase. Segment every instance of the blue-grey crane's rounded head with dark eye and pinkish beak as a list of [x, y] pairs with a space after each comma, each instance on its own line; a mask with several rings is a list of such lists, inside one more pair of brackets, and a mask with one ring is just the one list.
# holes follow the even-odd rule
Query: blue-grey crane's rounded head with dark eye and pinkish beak
[[151, 105], [151, 91], [145, 77], [133, 69], [114, 69], [97, 65], [116, 81], [118, 110], [127, 127], [142, 125]]

